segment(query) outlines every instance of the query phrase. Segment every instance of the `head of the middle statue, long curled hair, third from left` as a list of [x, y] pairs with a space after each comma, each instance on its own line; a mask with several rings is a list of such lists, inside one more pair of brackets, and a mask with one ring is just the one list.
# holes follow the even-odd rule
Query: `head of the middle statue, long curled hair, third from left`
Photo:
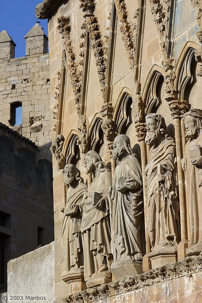
[[113, 142], [113, 152], [112, 157], [120, 160], [124, 155], [130, 155], [132, 157], [136, 157], [130, 146], [130, 139], [126, 135], [118, 135]]

